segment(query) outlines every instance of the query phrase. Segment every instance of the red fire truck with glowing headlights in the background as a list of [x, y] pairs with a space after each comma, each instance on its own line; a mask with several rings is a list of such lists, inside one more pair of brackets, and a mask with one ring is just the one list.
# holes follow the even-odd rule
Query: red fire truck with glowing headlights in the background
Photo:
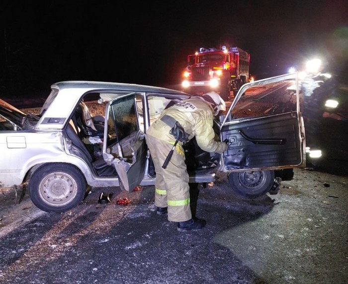
[[238, 47], [200, 48], [187, 56], [182, 87], [190, 94], [215, 91], [227, 101], [249, 82], [249, 65], [250, 54]]

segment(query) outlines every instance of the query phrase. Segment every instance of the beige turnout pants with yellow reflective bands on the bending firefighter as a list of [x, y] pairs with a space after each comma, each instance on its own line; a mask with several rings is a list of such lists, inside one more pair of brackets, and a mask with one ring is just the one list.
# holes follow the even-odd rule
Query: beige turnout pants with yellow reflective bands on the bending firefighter
[[166, 169], [162, 168], [173, 144], [150, 135], [146, 137], [150, 155], [156, 171], [155, 205], [168, 206], [168, 220], [187, 221], [191, 218], [188, 173], [184, 151], [177, 143], [171, 161]]

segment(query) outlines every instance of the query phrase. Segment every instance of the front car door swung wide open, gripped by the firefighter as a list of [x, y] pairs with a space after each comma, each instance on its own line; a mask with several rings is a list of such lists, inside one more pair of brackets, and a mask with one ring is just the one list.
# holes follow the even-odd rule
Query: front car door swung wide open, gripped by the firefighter
[[[222, 123], [224, 171], [302, 167], [305, 136], [297, 73], [245, 84]], [[250, 178], [246, 177], [246, 178]]]

